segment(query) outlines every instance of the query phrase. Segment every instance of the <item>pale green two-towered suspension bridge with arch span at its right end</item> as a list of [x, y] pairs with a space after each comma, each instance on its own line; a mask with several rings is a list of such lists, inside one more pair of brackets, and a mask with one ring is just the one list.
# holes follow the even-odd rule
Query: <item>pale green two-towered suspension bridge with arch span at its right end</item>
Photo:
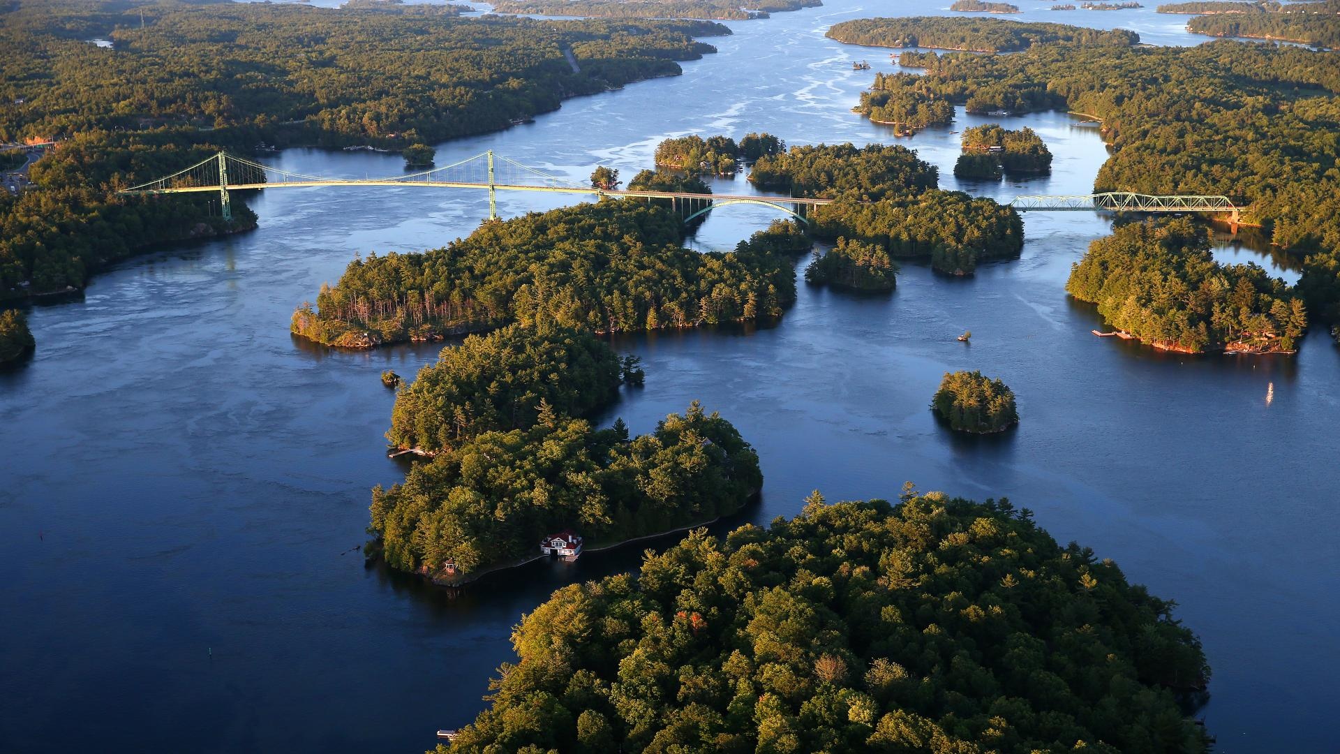
[[489, 192], [489, 217], [497, 219], [498, 191], [529, 191], [544, 193], [572, 193], [598, 197], [662, 199], [685, 215], [685, 221], [701, 217], [716, 207], [756, 204], [772, 207], [803, 223], [808, 223], [801, 209], [831, 204], [831, 199], [789, 196], [720, 195], [670, 191], [600, 189], [570, 182], [559, 176], [523, 165], [494, 154], [492, 150], [476, 154], [442, 168], [391, 176], [385, 178], [338, 178], [310, 176], [263, 165], [245, 157], [220, 152], [212, 157], [137, 186], [122, 189], [125, 196], [155, 196], [170, 193], [218, 192], [225, 219], [232, 217], [229, 192], [248, 189], [312, 188], [312, 186], [422, 186], [460, 188]]

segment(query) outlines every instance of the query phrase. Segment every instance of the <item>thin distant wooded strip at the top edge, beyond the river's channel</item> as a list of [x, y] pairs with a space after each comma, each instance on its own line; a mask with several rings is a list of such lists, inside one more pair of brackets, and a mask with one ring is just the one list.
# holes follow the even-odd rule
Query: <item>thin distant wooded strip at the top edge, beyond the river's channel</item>
[[497, 0], [498, 13], [615, 19], [766, 19], [769, 13], [816, 8], [820, 0], [760, 0], [742, 7], [737, 0]]

